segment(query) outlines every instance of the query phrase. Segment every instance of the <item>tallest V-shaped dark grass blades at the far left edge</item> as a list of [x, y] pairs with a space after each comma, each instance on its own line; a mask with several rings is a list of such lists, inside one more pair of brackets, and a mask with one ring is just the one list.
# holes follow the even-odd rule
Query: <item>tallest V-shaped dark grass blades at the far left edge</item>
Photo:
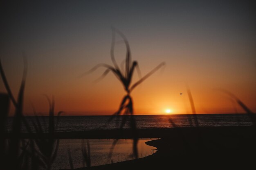
[[[23, 76], [22, 76], [22, 81], [20, 85], [20, 90], [18, 93], [18, 99], [15, 100], [13, 97], [13, 94], [11, 92], [11, 88], [8, 84], [7, 78], [4, 74], [4, 70], [2, 68], [2, 63], [0, 60], [0, 74], [2, 81], [4, 83], [4, 87], [7, 91], [8, 98], [11, 100], [15, 107], [15, 113], [13, 117], [13, 124], [12, 124], [12, 129], [10, 139], [6, 140], [7, 145], [5, 145], [4, 142], [4, 157], [3, 157], [3, 167], [4, 169], [24, 169], [23, 167], [26, 167], [27, 164], [26, 162], [23, 161], [24, 154], [20, 153], [20, 145], [21, 145], [21, 140], [19, 138], [20, 134], [20, 129], [21, 129], [21, 124], [24, 123], [25, 126], [28, 126], [27, 121], [25, 120], [23, 113], [22, 113], [22, 107], [23, 107], [23, 96], [24, 96], [24, 89], [25, 89], [25, 80], [26, 80], [26, 75], [27, 75], [27, 61], [26, 58], [23, 57], [24, 59], [24, 70], [23, 70]], [[4, 97], [5, 102], [7, 102], [7, 97]], [[8, 103], [8, 102], [7, 102]], [[8, 105], [6, 108], [3, 109], [3, 112], [1, 112], [1, 116], [3, 118], [3, 122], [5, 123], [7, 116], [8, 116]], [[4, 111], [5, 110], [5, 111]], [[1, 109], [2, 111], [2, 109]], [[4, 127], [5, 124], [1, 125], [1, 128]], [[1, 131], [4, 131], [4, 129], [1, 129]]]

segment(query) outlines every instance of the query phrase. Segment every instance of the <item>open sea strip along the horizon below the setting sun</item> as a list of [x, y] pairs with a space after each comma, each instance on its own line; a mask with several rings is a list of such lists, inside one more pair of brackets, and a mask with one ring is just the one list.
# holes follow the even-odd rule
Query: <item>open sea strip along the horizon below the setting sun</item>
[[[103, 130], [117, 129], [121, 123], [119, 119], [108, 120], [110, 116], [60, 116], [58, 121], [57, 132], [85, 131], [85, 130]], [[171, 128], [175, 126], [185, 127], [191, 126], [189, 119], [193, 120], [192, 115], [136, 115], [137, 128]], [[198, 114], [197, 119], [199, 126], [247, 126], [252, 125], [247, 114]], [[7, 131], [10, 131], [13, 118], [9, 118], [7, 122]], [[34, 117], [27, 117], [29, 124], [33, 129], [32, 121], [36, 121]], [[45, 120], [45, 121], [44, 121]], [[40, 118], [40, 124], [47, 130], [48, 117]], [[129, 128], [129, 124], [125, 128]], [[22, 127], [22, 132], [25, 132]]]

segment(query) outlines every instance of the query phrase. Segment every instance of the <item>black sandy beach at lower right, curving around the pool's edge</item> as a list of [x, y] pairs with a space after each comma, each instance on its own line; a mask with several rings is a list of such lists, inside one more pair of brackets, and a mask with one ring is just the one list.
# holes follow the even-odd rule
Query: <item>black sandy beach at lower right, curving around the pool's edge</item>
[[[127, 130], [123, 135], [129, 136], [129, 134], [130, 132]], [[117, 134], [112, 131], [107, 135], [108, 138], [111, 138]], [[95, 134], [95, 136], [103, 137], [103, 133]], [[146, 142], [146, 144], [157, 148], [157, 152], [153, 155], [130, 161], [95, 166], [90, 169], [157, 170], [193, 168], [221, 170], [255, 168], [256, 129], [254, 126], [139, 129], [139, 137], [144, 136], [162, 137], [161, 139]], [[88, 168], [78, 168], [77, 170], [86, 169]]]

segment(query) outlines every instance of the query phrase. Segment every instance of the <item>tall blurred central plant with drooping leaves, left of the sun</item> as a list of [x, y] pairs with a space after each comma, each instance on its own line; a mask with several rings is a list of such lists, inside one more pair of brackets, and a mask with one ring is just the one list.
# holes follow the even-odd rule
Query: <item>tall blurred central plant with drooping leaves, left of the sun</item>
[[[126, 45], [126, 60], [125, 60], [124, 72], [122, 72], [120, 70], [120, 68], [117, 65], [117, 62], [115, 60], [114, 50], [115, 50], [115, 43], [116, 43], [116, 41], [115, 41], [116, 34], [121, 36], [121, 38], [123, 39], [123, 41]], [[124, 96], [124, 98], [121, 102], [121, 105], [119, 106], [118, 111], [116, 111], [113, 114], [113, 116], [110, 118], [110, 120], [112, 120], [112, 118], [114, 118], [115, 116], [119, 116], [119, 115], [123, 114], [124, 116], [122, 116], [122, 121], [121, 121], [121, 125], [120, 125], [120, 130], [121, 130], [121, 129], [123, 129], [125, 123], [128, 121], [127, 119], [129, 119], [130, 128], [131, 128], [132, 134], [133, 134], [133, 155], [135, 156], [135, 158], [137, 158], [138, 157], [138, 152], [137, 152], [138, 136], [137, 136], [136, 121], [133, 116], [133, 102], [132, 102], [132, 97], [130, 96], [130, 93], [132, 92], [132, 90], [135, 87], [137, 87], [137, 85], [139, 85], [144, 80], [146, 80], [146, 78], [148, 78], [150, 75], [152, 75], [154, 72], [156, 72], [159, 68], [161, 68], [163, 65], [165, 65], [165, 63], [164, 62], [160, 63], [159, 65], [157, 65], [156, 68], [154, 68], [152, 71], [150, 71], [144, 77], [140, 78], [139, 81], [137, 81], [136, 83], [131, 85], [132, 76], [133, 76], [135, 68], [137, 68], [137, 72], [140, 73], [139, 68], [138, 68], [138, 63], [137, 63], [137, 61], [131, 60], [130, 46], [129, 46], [128, 40], [126, 39], [125, 35], [115, 28], [112, 28], [112, 44], [111, 44], [110, 56], [111, 56], [111, 60], [112, 60], [112, 63], [114, 66], [111, 66], [108, 64], [98, 64], [94, 68], [92, 68], [91, 70], [86, 72], [85, 74], [93, 72], [94, 70], [96, 70], [99, 67], [104, 67], [104, 68], [106, 68], [106, 71], [103, 72], [100, 79], [104, 78], [109, 72], [112, 72], [124, 86], [124, 90], [126, 91], [127, 94]], [[114, 148], [116, 142], [117, 142], [117, 139], [113, 142], [113, 145], [110, 150], [110, 156], [111, 156], [112, 149]]]

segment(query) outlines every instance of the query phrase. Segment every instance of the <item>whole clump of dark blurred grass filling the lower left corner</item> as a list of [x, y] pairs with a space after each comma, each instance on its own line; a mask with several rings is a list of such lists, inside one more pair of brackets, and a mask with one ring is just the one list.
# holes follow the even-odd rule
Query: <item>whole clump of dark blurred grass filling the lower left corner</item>
[[[7, 94], [0, 94], [0, 111], [1, 111], [1, 132], [5, 133], [5, 125], [9, 111], [9, 100], [11, 100], [13, 106], [15, 107], [15, 113], [13, 116], [13, 124], [11, 129], [11, 136], [9, 139], [1, 140], [1, 148], [3, 148], [3, 163], [2, 167], [4, 170], [38, 170], [46, 169], [50, 170], [54, 159], [56, 158], [59, 139], [55, 139], [54, 133], [56, 130], [56, 123], [54, 121], [54, 100], [52, 102], [47, 97], [49, 101], [49, 127], [48, 127], [48, 137], [44, 139], [41, 135], [45, 133], [43, 131], [42, 125], [39, 121], [38, 116], [36, 116], [36, 111], [34, 109], [36, 122], [32, 121], [36, 133], [31, 131], [27, 119], [23, 115], [23, 98], [25, 91], [25, 82], [27, 75], [27, 60], [24, 59], [24, 70], [22, 76], [22, 82], [20, 85], [20, 90], [18, 93], [18, 99], [15, 100], [11, 92], [11, 88], [8, 84], [7, 78], [5, 76], [4, 70], [2, 68], [2, 63], [0, 60], [0, 74], [2, 81], [4, 83]], [[58, 117], [61, 112], [58, 112]], [[20, 138], [21, 125], [24, 124], [27, 132], [29, 133], [29, 139]], [[46, 128], [45, 128], [46, 129]]]

